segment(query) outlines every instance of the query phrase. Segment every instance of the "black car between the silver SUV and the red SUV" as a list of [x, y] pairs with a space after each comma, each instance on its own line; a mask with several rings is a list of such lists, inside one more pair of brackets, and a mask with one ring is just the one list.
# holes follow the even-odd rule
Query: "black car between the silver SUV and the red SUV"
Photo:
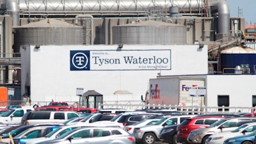
[[170, 125], [163, 127], [159, 134], [160, 140], [164, 143], [177, 144], [177, 126], [178, 125]]

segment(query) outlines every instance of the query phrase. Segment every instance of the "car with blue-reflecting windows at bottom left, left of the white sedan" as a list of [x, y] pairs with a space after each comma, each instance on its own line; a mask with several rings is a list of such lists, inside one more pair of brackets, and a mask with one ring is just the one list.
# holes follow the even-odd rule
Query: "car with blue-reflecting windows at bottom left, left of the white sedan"
[[58, 129], [58, 127], [60, 126], [31, 127], [30, 129], [27, 129], [26, 131], [23, 131], [17, 136], [13, 137], [13, 142], [17, 144], [24, 144], [28, 140], [32, 140], [34, 138], [41, 138], [49, 132], [54, 131], [54, 129]]

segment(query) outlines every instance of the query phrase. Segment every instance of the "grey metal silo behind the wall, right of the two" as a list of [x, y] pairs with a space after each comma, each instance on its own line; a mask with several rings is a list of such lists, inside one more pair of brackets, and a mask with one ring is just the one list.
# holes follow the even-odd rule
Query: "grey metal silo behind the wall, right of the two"
[[186, 44], [182, 25], [146, 20], [113, 26], [113, 44]]

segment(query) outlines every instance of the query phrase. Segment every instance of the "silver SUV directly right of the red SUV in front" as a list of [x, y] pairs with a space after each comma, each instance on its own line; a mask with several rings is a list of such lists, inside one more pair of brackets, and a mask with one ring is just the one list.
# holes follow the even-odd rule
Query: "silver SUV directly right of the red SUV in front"
[[205, 144], [207, 138], [212, 134], [232, 131], [240, 125], [249, 122], [256, 122], [256, 118], [226, 118], [214, 124], [211, 124], [209, 127], [202, 127], [200, 129], [195, 129], [194, 131], [191, 131], [188, 136], [188, 141], [189, 143]]

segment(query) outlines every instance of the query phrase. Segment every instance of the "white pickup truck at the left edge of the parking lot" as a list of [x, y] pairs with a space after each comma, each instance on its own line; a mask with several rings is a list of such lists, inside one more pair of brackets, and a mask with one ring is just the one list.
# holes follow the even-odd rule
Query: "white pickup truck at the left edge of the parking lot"
[[22, 116], [28, 111], [34, 111], [34, 108], [12, 109], [0, 116], [0, 124], [20, 124]]

